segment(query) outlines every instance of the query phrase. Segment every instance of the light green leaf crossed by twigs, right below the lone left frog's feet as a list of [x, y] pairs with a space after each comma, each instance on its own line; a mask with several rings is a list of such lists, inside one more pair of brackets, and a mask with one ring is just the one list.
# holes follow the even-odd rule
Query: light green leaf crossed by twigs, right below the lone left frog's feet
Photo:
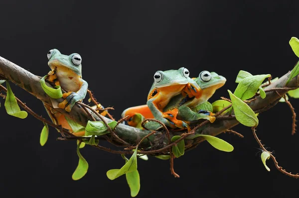
[[[114, 130], [117, 121], [109, 122], [108, 125], [112, 130]], [[102, 121], [90, 121], [88, 120], [87, 125], [85, 127], [85, 135], [104, 135], [109, 133], [107, 127]]]

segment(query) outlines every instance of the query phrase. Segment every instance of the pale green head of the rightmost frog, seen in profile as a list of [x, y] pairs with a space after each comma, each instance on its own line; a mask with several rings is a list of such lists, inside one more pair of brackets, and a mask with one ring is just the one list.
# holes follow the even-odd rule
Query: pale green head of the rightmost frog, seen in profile
[[202, 90], [209, 89], [214, 92], [221, 88], [226, 82], [226, 79], [223, 76], [208, 71], [200, 72], [198, 78], [194, 80]]

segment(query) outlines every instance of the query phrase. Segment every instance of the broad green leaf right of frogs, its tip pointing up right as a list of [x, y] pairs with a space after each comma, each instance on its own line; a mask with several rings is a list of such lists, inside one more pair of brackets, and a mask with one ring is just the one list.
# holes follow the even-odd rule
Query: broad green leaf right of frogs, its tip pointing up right
[[258, 91], [263, 81], [270, 76], [270, 74], [263, 74], [246, 77], [238, 84], [234, 95], [242, 100], [252, 98]]

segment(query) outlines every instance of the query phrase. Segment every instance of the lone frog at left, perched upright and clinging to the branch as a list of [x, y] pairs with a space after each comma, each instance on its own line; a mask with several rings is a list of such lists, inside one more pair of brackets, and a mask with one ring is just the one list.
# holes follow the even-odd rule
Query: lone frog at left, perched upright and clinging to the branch
[[63, 55], [57, 49], [50, 50], [47, 56], [51, 68], [48, 73], [49, 81], [67, 91], [58, 107], [70, 112], [74, 104], [84, 99], [87, 93], [88, 84], [82, 79], [82, 58], [77, 53]]

